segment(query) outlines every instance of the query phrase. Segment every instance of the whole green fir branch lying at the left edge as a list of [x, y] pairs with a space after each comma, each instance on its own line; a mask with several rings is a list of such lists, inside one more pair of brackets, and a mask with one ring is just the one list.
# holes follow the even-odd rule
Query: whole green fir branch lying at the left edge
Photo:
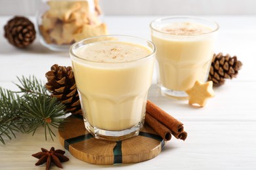
[[[17, 77], [18, 78], [18, 77]], [[0, 143], [12, 139], [16, 132], [35, 134], [38, 127], [45, 128], [45, 140], [56, 135], [52, 127], [58, 128], [64, 120], [65, 106], [45, 88], [35, 76], [18, 78], [19, 92], [0, 87]]]

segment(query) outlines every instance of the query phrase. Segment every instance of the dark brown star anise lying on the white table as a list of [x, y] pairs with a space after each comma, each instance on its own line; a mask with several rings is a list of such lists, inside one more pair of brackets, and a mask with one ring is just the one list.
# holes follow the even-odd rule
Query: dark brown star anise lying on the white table
[[35, 165], [42, 165], [46, 163], [46, 169], [50, 169], [52, 162], [56, 167], [62, 167], [61, 162], [68, 161], [69, 159], [64, 156], [65, 151], [51, 147], [51, 150], [47, 150], [45, 148], [41, 148], [42, 152], [37, 152], [36, 154], [32, 154], [33, 157], [39, 159]]

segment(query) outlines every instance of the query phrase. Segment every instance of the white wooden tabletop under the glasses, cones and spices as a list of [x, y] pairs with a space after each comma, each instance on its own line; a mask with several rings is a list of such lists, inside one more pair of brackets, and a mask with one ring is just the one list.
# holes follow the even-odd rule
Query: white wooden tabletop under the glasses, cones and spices
[[[156, 158], [141, 163], [91, 165], [69, 152], [64, 169], [256, 169], [256, 16], [204, 16], [220, 25], [216, 52], [238, 56], [244, 64], [238, 78], [214, 88], [215, 97], [203, 108], [188, 101], [163, 97], [154, 84], [149, 99], [184, 124], [186, 141], [173, 137]], [[26, 50], [14, 48], [3, 37], [3, 25], [10, 17], [0, 17], [0, 86], [17, 90], [16, 76], [35, 75], [46, 80], [51, 65], [71, 65], [68, 52], [51, 52], [36, 41]], [[30, 17], [32, 21], [34, 18]], [[135, 35], [150, 39], [148, 24], [158, 16], [105, 16], [111, 34]], [[55, 129], [57, 134], [57, 130]], [[43, 128], [34, 136], [18, 133], [16, 139], [0, 144], [0, 169], [45, 169], [35, 167], [31, 154], [51, 146], [64, 150], [58, 141], [45, 141]], [[52, 169], [58, 169], [55, 166]]]

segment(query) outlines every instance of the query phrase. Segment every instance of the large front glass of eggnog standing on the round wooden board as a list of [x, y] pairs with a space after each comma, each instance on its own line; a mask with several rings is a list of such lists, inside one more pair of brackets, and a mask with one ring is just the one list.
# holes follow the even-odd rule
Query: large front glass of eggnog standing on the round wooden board
[[152, 84], [156, 48], [139, 37], [105, 35], [70, 47], [85, 127], [96, 139], [139, 134]]

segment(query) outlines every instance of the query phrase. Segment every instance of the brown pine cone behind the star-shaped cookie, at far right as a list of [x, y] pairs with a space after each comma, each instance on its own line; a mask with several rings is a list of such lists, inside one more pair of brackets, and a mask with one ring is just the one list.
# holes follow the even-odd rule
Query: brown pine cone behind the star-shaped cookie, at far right
[[238, 75], [238, 70], [242, 67], [242, 62], [238, 61], [236, 56], [223, 54], [214, 54], [211, 61], [211, 68], [209, 72], [208, 80], [213, 81], [214, 86], [221, 86], [224, 84], [225, 78], [232, 79]]

